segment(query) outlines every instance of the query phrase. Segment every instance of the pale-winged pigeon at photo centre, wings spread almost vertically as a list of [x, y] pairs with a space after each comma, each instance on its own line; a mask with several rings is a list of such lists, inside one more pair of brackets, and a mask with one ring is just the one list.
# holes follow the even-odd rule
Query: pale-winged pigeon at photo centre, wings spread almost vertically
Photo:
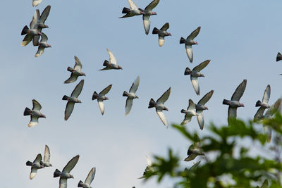
[[133, 106], [133, 99], [139, 99], [139, 97], [135, 94], [140, 82], [140, 77], [137, 76], [133, 84], [131, 85], [128, 92], [123, 92], [123, 96], [127, 96], [128, 99], [126, 99], [126, 104], [125, 104], [125, 115], [128, 115], [130, 113], [131, 107]]

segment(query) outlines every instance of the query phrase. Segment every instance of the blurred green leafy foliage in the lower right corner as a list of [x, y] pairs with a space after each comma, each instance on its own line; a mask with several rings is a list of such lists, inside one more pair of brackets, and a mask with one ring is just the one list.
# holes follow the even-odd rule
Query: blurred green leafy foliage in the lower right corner
[[[262, 125], [273, 132], [270, 144]], [[167, 157], [154, 156], [143, 177], [145, 180], [157, 177], [161, 182], [166, 176], [175, 183], [173, 187], [282, 187], [281, 125], [280, 113], [257, 123], [233, 119], [228, 127], [211, 124], [209, 133], [202, 137], [182, 125], [173, 125], [188, 143], [197, 143], [204, 156], [197, 156], [198, 162], [193, 165], [195, 160], [184, 162], [186, 156], [180, 157], [168, 149]], [[193, 152], [189, 149], [188, 155]]]

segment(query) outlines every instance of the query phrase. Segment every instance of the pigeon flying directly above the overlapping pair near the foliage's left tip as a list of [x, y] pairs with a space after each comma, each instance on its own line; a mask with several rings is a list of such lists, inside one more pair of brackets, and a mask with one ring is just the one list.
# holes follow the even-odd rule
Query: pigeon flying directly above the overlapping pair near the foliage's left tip
[[198, 82], [198, 77], [204, 77], [203, 74], [200, 73], [200, 71], [205, 68], [209, 64], [210, 60], [206, 60], [200, 65], [195, 66], [193, 70], [190, 70], [190, 68], [186, 68], [184, 75], [191, 75], [190, 80], [192, 82], [192, 85], [194, 87], [194, 90], [197, 95], [200, 95], [200, 87], [199, 87], [199, 82]]

